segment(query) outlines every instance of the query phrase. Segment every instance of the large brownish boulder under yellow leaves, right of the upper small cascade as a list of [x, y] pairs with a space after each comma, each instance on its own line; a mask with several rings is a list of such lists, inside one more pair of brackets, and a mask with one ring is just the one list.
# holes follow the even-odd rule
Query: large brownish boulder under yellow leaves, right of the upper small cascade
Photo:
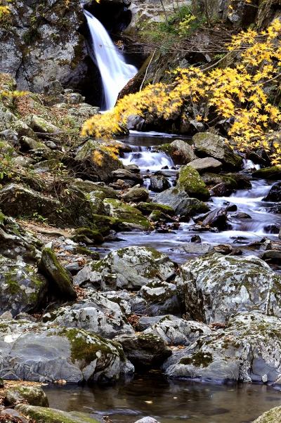
[[199, 157], [213, 157], [223, 163], [225, 169], [241, 169], [242, 157], [235, 154], [227, 143], [226, 138], [209, 132], [198, 133], [193, 136], [195, 152]]

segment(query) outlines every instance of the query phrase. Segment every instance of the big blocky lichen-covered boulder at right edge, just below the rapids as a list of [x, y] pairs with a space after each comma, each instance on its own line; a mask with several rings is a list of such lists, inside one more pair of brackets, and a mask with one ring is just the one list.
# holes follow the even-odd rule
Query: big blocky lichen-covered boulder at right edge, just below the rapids
[[194, 320], [226, 322], [244, 310], [281, 316], [280, 275], [255, 256], [200, 257], [185, 263], [176, 282]]

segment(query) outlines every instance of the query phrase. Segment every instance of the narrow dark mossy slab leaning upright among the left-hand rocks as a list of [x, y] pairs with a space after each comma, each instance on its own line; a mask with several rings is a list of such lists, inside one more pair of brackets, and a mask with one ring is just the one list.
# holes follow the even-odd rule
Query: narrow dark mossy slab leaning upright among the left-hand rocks
[[55, 297], [66, 300], [77, 298], [70, 273], [67, 273], [63, 266], [61, 266], [51, 248], [43, 249], [39, 268], [48, 280], [50, 280], [51, 292]]

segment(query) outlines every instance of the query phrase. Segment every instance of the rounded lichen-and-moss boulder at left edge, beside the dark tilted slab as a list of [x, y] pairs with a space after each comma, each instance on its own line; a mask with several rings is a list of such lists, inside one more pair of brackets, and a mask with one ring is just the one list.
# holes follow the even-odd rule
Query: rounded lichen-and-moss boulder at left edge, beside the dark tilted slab
[[34, 267], [0, 256], [0, 313], [34, 311], [46, 297], [47, 282]]

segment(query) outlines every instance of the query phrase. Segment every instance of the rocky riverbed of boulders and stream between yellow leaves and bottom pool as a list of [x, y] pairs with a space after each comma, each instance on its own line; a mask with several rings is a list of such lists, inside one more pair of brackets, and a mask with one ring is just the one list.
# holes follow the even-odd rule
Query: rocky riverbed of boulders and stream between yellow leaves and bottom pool
[[[279, 389], [280, 167], [211, 132], [81, 138], [96, 112], [63, 89], [0, 103], [0, 377]], [[7, 412], [103, 419], [21, 395]]]

